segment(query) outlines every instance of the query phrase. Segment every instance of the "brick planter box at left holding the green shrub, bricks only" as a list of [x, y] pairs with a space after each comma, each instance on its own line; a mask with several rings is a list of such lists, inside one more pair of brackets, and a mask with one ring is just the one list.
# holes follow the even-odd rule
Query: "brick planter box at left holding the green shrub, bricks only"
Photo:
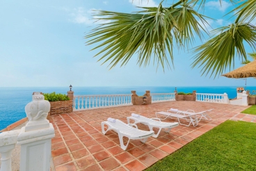
[[58, 115], [63, 113], [71, 113], [73, 111], [73, 101], [49, 101], [51, 109], [48, 115]]

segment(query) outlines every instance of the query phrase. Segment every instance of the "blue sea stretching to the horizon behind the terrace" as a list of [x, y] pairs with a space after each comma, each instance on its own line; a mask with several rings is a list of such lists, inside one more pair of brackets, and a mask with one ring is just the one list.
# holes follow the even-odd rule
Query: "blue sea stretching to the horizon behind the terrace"
[[[22, 88], [0, 88], [0, 130], [8, 125], [26, 117], [25, 106], [32, 100], [33, 92], [61, 93], [67, 94], [69, 87], [22, 87]], [[144, 95], [145, 90], [152, 93], [167, 92], [193, 92], [198, 93], [227, 93], [228, 98], [237, 97], [237, 86], [225, 87], [154, 87], [154, 86], [129, 86], [129, 87], [73, 87], [74, 95], [120, 95], [131, 94], [131, 90], [136, 90], [137, 95]], [[256, 87], [247, 87], [246, 90], [256, 90]]]

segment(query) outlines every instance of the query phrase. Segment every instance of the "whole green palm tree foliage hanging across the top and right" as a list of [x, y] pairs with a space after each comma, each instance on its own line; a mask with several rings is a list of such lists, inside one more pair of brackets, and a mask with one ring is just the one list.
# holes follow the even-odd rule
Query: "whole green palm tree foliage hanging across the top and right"
[[[140, 66], [153, 60], [163, 70], [165, 64], [171, 68], [173, 48], [190, 49], [195, 35], [202, 40], [204, 33], [208, 34], [204, 28], [209, 17], [195, 9], [204, 5], [205, 0], [180, 0], [168, 8], [161, 2], [157, 8], [141, 7], [143, 10], [131, 14], [100, 10], [97, 19], [109, 22], [88, 33], [86, 43], [100, 43], [93, 49], [104, 47], [95, 56], [101, 55], [99, 60], [109, 62], [110, 68], [118, 63], [125, 65], [135, 53]], [[192, 67], [202, 67], [202, 74], [217, 76], [234, 66], [236, 52], [239, 58], [247, 60], [244, 43], [253, 51], [256, 49], [256, 27], [251, 24], [256, 16], [255, 8], [256, 0], [239, 1], [230, 12], [237, 17], [234, 24], [215, 29], [207, 42], [195, 47]]]

